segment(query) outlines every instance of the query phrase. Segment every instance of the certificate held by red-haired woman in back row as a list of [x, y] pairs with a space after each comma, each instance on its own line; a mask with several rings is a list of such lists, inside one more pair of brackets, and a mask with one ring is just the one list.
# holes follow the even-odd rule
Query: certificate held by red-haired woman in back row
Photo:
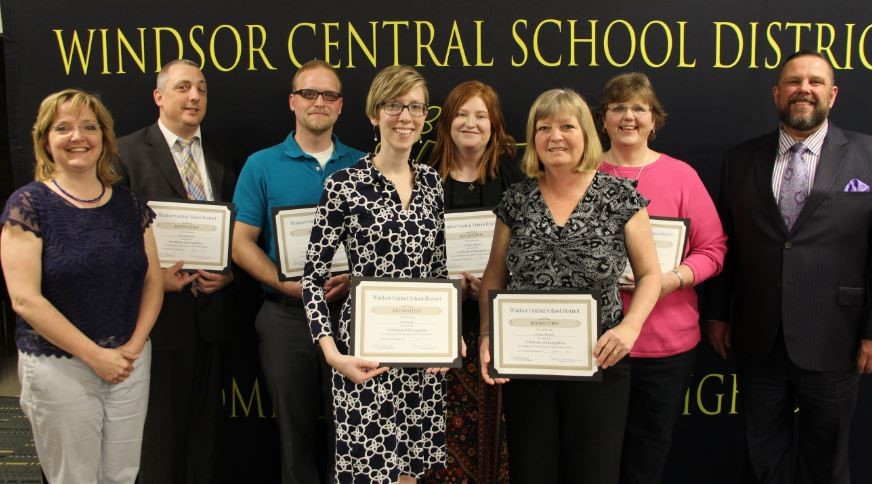
[[490, 209], [445, 212], [445, 249], [448, 277], [469, 272], [484, 275], [494, 238], [497, 216]]

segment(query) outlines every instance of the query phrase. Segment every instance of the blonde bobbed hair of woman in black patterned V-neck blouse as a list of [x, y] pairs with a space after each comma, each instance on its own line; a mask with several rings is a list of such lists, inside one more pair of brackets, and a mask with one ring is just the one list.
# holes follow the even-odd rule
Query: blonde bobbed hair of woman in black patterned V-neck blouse
[[539, 155], [536, 153], [536, 123], [558, 114], [571, 114], [578, 119], [584, 135], [584, 153], [575, 167], [577, 172], [594, 171], [603, 160], [603, 148], [596, 134], [596, 124], [590, 108], [580, 94], [569, 88], [545, 91], [533, 101], [527, 116], [527, 148], [521, 160], [521, 168], [530, 177], [545, 174]]

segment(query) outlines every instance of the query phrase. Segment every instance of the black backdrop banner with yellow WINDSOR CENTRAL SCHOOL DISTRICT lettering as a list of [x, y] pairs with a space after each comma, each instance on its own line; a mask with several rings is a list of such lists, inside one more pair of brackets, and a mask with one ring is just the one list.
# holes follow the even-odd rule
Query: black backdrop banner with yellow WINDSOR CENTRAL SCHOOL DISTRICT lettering
[[[49, 93], [80, 87], [101, 95], [124, 135], [153, 123], [156, 72], [186, 57], [209, 83], [206, 136], [245, 155], [284, 139], [293, 127], [287, 98], [296, 67], [312, 58], [337, 67], [344, 109], [336, 128], [347, 144], [372, 149], [364, 115], [369, 82], [381, 68], [411, 64], [428, 79], [431, 110], [424, 143], [456, 84], [480, 79], [500, 93], [511, 133], [523, 139], [527, 110], [542, 91], [572, 87], [591, 104], [604, 82], [645, 72], [670, 113], [655, 149], [688, 161], [710, 189], [731, 144], [773, 130], [775, 69], [799, 49], [819, 50], [836, 67], [839, 96], [831, 118], [872, 132], [872, 4], [833, 0], [584, 2], [443, 0], [432, 8], [380, 0], [223, 2], [91, 0], [64, 6], [2, 2], [15, 186], [32, 179], [30, 127]], [[258, 290], [243, 284], [237, 337], [226, 361], [222, 476], [274, 482], [274, 415], [260, 379], [253, 329]], [[872, 482], [862, 439], [872, 428], [872, 385], [855, 419], [854, 482]], [[314, 389], [313, 389], [314, 391]], [[701, 345], [678, 423], [668, 483], [736, 482], [742, 473], [740, 395], [731, 361]]]

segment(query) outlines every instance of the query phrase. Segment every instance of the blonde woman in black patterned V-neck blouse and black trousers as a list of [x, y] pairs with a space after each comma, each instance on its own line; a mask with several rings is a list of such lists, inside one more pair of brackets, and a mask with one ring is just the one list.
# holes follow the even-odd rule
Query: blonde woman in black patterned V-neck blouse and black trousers
[[[593, 348], [602, 381], [517, 379], [503, 386], [513, 484], [617, 484], [630, 391], [625, 356], [660, 294], [660, 267], [645, 210], [628, 180], [599, 173], [593, 117], [575, 91], [539, 95], [527, 118], [522, 167], [494, 210], [483, 294], [490, 289], [599, 292], [603, 334]], [[618, 278], [636, 276], [624, 314]], [[511, 278], [509, 278], [511, 274]], [[482, 377], [490, 362], [488, 301], [481, 299]]]

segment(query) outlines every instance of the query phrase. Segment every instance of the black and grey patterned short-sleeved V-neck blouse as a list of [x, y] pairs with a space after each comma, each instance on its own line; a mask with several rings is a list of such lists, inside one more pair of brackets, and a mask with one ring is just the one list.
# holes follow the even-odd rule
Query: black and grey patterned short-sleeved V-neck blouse
[[603, 330], [623, 319], [618, 279], [627, 260], [624, 225], [648, 205], [629, 180], [597, 172], [563, 227], [528, 179], [513, 185], [494, 210], [512, 234], [508, 289], [578, 289], [602, 295]]

